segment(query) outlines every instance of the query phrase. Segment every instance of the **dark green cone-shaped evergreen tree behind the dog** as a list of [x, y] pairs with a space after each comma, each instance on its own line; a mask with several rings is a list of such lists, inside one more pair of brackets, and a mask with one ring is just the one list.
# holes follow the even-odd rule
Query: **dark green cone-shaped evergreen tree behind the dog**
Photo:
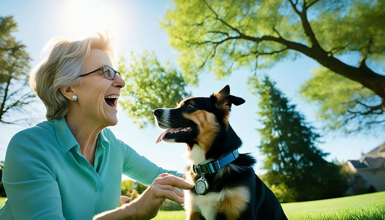
[[[266, 183], [277, 190], [285, 201], [306, 201], [342, 196], [345, 180], [340, 176], [340, 166], [329, 163], [316, 147], [320, 135], [305, 122], [305, 117], [289, 104], [275, 82], [268, 77], [249, 80], [250, 90], [259, 95], [257, 114], [263, 128], [258, 146], [266, 156], [263, 176]], [[288, 195], [283, 195], [289, 193]]]

